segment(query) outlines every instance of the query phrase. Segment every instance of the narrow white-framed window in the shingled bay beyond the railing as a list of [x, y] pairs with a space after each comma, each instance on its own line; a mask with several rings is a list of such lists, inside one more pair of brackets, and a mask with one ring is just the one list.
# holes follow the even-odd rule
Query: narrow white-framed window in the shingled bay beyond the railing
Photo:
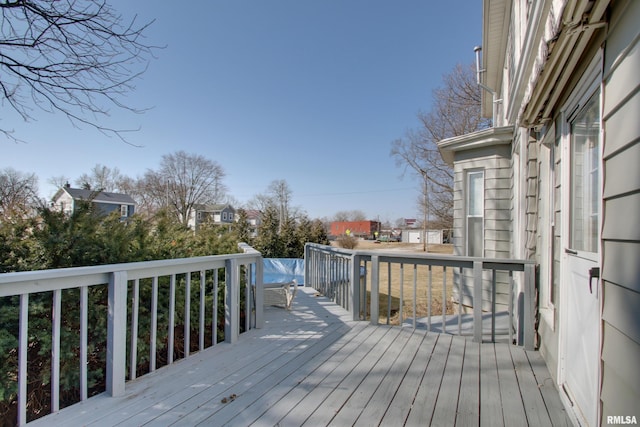
[[484, 171], [467, 173], [467, 255], [484, 255]]

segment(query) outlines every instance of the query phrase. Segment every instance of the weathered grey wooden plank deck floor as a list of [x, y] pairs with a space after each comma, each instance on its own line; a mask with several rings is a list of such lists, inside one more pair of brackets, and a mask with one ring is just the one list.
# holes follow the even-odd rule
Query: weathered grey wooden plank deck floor
[[30, 425], [571, 425], [537, 352], [371, 326], [300, 288], [263, 329]]

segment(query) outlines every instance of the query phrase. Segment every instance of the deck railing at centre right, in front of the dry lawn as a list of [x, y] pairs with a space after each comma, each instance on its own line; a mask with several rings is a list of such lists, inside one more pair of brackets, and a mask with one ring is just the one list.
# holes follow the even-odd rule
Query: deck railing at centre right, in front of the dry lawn
[[[387, 264], [387, 283], [382, 283], [381, 264]], [[305, 283], [317, 289], [325, 296], [353, 314], [354, 320], [370, 319], [378, 324], [380, 319], [380, 299], [387, 298], [386, 319], [391, 317], [391, 266], [399, 265], [399, 318], [404, 319], [403, 307], [405, 299], [413, 304], [413, 325], [418, 322], [416, 301], [424, 298], [426, 303], [426, 327], [431, 330], [432, 318], [441, 316], [442, 332], [462, 334], [463, 304], [457, 304], [457, 330], [447, 330], [446, 302], [447, 287], [456, 287], [457, 295], [465, 296], [462, 289], [467, 277], [470, 277], [472, 295], [470, 301], [465, 300], [473, 311], [473, 338], [476, 342], [483, 340], [483, 317], [490, 316], [490, 339], [496, 337], [496, 285], [498, 272], [506, 272], [508, 288], [506, 311], [508, 314], [508, 338], [517, 342], [527, 350], [534, 348], [534, 291], [535, 264], [533, 261], [513, 259], [473, 258], [430, 253], [409, 253], [391, 251], [361, 251], [340, 249], [331, 246], [307, 243], [305, 246]], [[426, 280], [419, 280], [417, 266], [426, 266]], [[441, 294], [434, 295], [432, 268], [442, 268], [442, 283], [437, 289]], [[448, 270], [449, 269], [449, 270]], [[413, 277], [409, 284], [405, 280], [405, 270], [410, 270]], [[447, 282], [447, 271], [454, 270], [457, 280]], [[516, 277], [514, 275], [519, 275]], [[453, 283], [451, 283], [453, 282]], [[404, 295], [405, 287], [410, 288], [410, 295]], [[381, 292], [382, 290], [382, 292]], [[433, 299], [439, 297], [442, 302], [442, 313], [432, 313]], [[488, 306], [488, 308], [487, 308]]]

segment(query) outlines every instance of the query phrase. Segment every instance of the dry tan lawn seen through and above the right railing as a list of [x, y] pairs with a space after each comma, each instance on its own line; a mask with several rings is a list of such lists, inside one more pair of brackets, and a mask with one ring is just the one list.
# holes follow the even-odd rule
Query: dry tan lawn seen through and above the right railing
[[[389, 242], [374, 243], [372, 241], [359, 241], [356, 250], [381, 250], [398, 252], [422, 252], [421, 244]], [[429, 253], [451, 254], [451, 245], [429, 245]], [[370, 271], [370, 267], [368, 267]], [[442, 267], [431, 268], [431, 315], [442, 314], [443, 299], [446, 301], [446, 313], [453, 313], [451, 302], [453, 289], [453, 270], [446, 270], [446, 296], [443, 298], [443, 284], [445, 273]], [[414, 280], [416, 292], [414, 298]], [[427, 266], [404, 265], [391, 263], [380, 264], [380, 323], [386, 323], [387, 317], [391, 324], [399, 324], [400, 301], [402, 304], [402, 320], [413, 317], [414, 299], [417, 317], [425, 317], [429, 314], [429, 300], [427, 284], [429, 283], [429, 268]], [[371, 288], [371, 274], [367, 274], [367, 289]], [[389, 292], [389, 288], [391, 292]], [[390, 297], [389, 297], [390, 296]], [[402, 298], [401, 298], [402, 296]], [[390, 311], [389, 311], [390, 308]], [[391, 314], [389, 316], [389, 313]]]

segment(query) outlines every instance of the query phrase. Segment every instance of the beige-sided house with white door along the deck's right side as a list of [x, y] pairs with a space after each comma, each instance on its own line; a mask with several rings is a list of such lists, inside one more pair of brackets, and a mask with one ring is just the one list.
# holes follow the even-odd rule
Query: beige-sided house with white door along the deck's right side
[[485, 0], [494, 127], [440, 143], [455, 252], [537, 262], [539, 349], [580, 425], [640, 422], [639, 23], [637, 0]]

